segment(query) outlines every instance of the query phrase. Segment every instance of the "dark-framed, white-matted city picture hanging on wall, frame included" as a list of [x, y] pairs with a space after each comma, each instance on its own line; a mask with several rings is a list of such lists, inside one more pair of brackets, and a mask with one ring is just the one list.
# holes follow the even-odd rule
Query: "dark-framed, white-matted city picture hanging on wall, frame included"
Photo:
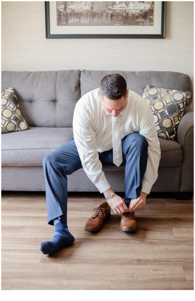
[[166, 1], [45, 1], [46, 39], [165, 39]]

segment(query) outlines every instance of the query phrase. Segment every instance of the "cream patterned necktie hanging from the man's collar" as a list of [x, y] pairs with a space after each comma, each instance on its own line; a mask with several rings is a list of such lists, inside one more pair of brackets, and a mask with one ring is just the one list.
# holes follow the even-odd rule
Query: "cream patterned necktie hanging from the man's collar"
[[112, 146], [113, 146], [113, 163], [120, 166], [123, 162], [122, 144], [121, 144], [121, 126], [120, 120], [112, 116]]

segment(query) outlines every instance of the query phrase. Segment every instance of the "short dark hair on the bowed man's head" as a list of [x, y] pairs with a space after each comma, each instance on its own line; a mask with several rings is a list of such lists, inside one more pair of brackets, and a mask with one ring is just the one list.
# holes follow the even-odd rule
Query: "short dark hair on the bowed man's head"
[[127, 82], [121, 74], [112, 73], [104, 76], [100, 82], [99, 92], [102, 100], [103, 96], [111, 100], [126, 97]]

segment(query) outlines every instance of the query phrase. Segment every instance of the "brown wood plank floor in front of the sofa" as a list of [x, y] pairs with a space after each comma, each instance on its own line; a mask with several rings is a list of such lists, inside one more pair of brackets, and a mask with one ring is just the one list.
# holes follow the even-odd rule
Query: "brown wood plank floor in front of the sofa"
[[150, 193], [135, 212], [149, 231], [120, 231], [121, 215], [112, 209], [101, 231], [84, 231], [104, 200], [98, 192], [69, 192], [75, 241], [48, 256], [39, 250], [54, 230], [45, 192], [2, 191], [2, 290], [193, 290], [193, 200]]

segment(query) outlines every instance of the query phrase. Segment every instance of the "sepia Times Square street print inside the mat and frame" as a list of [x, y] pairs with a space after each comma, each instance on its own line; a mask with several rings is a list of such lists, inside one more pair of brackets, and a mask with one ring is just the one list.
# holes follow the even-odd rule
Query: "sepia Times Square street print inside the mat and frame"
[[153, 26], [154, 1], [57, 1], [57, 26]]

